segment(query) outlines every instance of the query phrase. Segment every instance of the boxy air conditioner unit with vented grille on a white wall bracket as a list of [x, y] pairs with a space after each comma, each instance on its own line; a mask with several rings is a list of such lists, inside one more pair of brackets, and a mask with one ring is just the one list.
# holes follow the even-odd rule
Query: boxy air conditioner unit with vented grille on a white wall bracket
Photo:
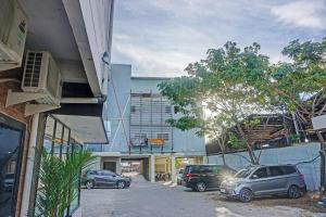
[[40, 104], [60, 105], [61, 73], [52, 55], [46, 51], [27, 51], [22, 81], [24, 92], [41, 93]]

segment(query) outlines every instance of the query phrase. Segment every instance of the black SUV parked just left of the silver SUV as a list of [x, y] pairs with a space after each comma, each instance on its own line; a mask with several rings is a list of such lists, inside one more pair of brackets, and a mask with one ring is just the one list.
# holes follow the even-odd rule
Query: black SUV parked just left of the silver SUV
[[189, 165], [183, 175], [183, 186], [192, 191], [203, 192], [206, 189], [220, 188], [221, 182], [236, 171], [223, 165]]

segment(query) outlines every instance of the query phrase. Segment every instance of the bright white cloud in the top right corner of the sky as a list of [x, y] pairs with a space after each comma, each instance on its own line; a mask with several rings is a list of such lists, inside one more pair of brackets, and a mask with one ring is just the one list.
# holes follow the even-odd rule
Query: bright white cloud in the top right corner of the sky
[[271, 9], [271, 13], [285, 25], [296, 27], [326, 28], [326, 1], [300, 0]]

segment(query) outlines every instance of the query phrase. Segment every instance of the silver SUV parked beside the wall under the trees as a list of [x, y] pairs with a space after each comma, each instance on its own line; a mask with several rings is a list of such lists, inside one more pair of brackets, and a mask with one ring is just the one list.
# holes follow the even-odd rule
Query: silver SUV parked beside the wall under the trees
[[294, 165], [250, 166], [224, 180], [220, 188], [226, 197], [250, 202], [255, 196], [288, 195], [298, 199], [306, 191], [303, 175]]

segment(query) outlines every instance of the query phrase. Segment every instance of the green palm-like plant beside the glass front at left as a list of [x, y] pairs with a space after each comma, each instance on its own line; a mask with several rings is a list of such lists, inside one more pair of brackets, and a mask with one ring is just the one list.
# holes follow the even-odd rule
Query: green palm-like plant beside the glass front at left
[[35, 215], [29, 216], [63, 217], [66, 208], [77, 196], [82, 170], [88, 167], [96, 156], [83, 150], [68, 153], [62, 158], [47, 153], [45, 149], [36, 153], [41, 157], [38, 173], [39, 189]]

